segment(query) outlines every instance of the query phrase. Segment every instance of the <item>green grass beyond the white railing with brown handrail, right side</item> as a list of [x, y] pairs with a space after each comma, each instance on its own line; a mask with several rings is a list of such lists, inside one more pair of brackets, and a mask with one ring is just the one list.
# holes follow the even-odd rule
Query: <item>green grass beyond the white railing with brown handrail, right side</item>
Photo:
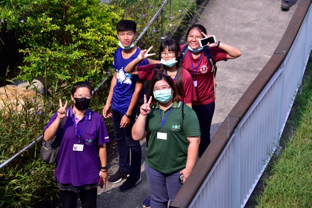
[[259, 207], [312, 207], [312, 54], [306, 67], [302, 93], [296, 96], [296, 131], [278, 160], [272, 176], [257, 199]]

